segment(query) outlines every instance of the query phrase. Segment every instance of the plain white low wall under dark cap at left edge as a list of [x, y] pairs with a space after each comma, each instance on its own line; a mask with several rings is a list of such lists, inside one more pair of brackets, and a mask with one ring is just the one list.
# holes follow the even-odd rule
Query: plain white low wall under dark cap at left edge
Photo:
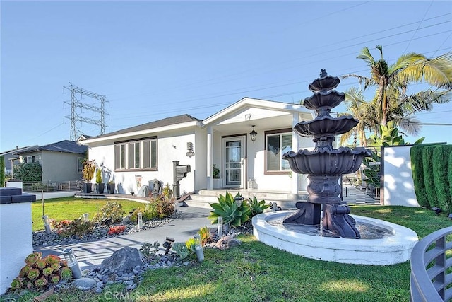
[[0, 294], [4, 294], [25, 257], [33, 252], [31, 203], [0, 205]]

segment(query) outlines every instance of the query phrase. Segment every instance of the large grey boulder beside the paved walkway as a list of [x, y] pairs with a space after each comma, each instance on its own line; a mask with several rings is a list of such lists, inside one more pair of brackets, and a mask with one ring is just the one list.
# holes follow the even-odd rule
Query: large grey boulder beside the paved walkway
[[117, 250], [110, 257], [102, 261], [101, 268], [109, 269], [111, 272], [126, 271], [143, 265], [143, 254], [137, 248], [125, 247]]

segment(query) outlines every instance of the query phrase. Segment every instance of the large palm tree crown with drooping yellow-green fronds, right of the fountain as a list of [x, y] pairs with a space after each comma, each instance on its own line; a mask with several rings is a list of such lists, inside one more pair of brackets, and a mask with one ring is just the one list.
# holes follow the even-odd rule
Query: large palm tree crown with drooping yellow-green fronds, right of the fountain
[[[447, 103], [451, 100], [452, 52], [434, 59], [412, 52], [403, 54], [396, 63], [389, 65], [383, 59], [383, 47], [377, 45], [376, 49], [381, 54], [378, 60], [372, 57], [368, 47], [364, 47], [357, 57], [369, 65], [370, 77], [347, 74], [343, 78], [356, 77], [360, 84], [364, 84], [364, 91], [376, 86], [371, 104], [379, 124], [386, 126], [392, 120], [408, 134], [416, 135], [420, 130], [420, 122], [412, 114], [420, 110], [432, 110], [432, 103]], [[436, 89], [429, 88], [407, 95], [408, 86], [412, 83], [428, 83]], [[349, 100], [354, 102], [352, 96]], [[373, 123], [372, 119], [364, 122], [367, 129], [376, 131], [372, 127]]]

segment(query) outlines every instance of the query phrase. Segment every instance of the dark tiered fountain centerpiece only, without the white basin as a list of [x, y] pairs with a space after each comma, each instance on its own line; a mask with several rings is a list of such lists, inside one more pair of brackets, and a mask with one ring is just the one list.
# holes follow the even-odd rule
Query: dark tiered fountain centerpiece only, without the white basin
[[314, 151], [290, 151], [283, 155], [294, 172], [309, 174], [308, 202], [297, 202], [299, 210], [287, 217], [284, 223], [321, 224], [322, 231], [330, 231], [340, 237], [357, 238], [359, 231], [349, 215], [350, 207], [343, 204], [339, 197], [341, 187], [338, 180], [341, 174], [356, 172], [362, 159], [371, 156], [371, 151], [364, 148], [333, 148], [335, 136], [349, 132], [358, 121], [351, 115], [331, 117], [331, 108], [345, 100], [345, 95], [332, 90], [340, 82], [338, 77], [328, 76], [324, 69], [320, 76], [309, 85], [314, 95], [306, 98], [303, 104], [310, 110], [316, 110], [316, 118], [299, 122], [294, 127], [294, 131], [302, 137], [314, 137], [316, 147]]

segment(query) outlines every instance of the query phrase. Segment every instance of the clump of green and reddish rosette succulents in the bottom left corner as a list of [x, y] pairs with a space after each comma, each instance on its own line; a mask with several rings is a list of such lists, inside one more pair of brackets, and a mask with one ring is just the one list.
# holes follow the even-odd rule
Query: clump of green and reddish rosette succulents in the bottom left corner
[[25, 264], [18, 277], [11, 282], [11, 291], [45, 291], [61, 279], [72, 279], [72, 271], [67, 262], [56, 255], [42, 258], [42, 252], [33, 252], [25, 258]]

